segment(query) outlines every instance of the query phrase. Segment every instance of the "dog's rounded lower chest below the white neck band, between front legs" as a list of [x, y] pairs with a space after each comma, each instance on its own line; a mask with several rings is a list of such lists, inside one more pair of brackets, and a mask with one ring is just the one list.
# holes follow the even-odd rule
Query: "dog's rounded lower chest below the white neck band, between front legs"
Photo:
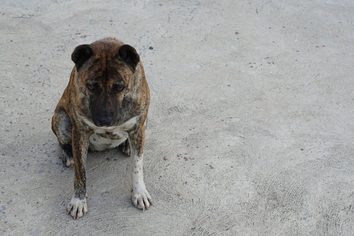
[[123, 130], [106, 131], [104, 129], [96, 129], [90, 136], [89, 147], [91, 150], [108, 150], [118, 147], [126, 141], [128, 133]]

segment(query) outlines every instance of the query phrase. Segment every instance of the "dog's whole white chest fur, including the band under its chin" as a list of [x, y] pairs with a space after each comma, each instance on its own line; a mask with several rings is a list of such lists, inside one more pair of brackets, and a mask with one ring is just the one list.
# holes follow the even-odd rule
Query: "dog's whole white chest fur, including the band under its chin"
[[94, 133], [90, 136], [90, 149], [100, 151], [118, 147], [128, 139], [127, 131], [136, 125], [137, 120], [138, 117], [135, 116], [126, 123], [114, 127], [97, 127], [90, 121], [85, 120], [94, 129]]

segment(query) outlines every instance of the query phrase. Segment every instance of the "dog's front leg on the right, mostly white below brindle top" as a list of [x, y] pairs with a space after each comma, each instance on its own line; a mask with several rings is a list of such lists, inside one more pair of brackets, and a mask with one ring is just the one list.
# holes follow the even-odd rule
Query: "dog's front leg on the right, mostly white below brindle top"
[[152, 198], [147, 192], [143, 177], [143, 148], [145, 141], [145, 125], [129, 133], [131, 151], [131, 181], [133, 184], [133, 205], [141, 210], [149, 209]]

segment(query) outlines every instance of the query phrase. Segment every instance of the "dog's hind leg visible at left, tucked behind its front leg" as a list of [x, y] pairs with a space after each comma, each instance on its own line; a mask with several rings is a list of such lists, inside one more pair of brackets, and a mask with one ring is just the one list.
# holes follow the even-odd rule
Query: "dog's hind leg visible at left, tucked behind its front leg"
[[63, 149], [62, 161], [67, 167], [74, 165], [72, 159], [72, 123], [63, 107], [57, 107], [51, 119], [51, 129]]

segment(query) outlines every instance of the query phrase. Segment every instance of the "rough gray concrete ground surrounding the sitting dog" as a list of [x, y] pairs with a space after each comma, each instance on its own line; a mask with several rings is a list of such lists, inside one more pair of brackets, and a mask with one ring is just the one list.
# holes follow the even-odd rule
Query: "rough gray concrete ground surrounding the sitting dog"
[[[351, 0], [1, 0], [0, 235], [354, 235], [353, 20]], [[106, 36], [145, 65], [154, 205], [93, 153], [75, 221], [50, 120], [74, 47]]]

